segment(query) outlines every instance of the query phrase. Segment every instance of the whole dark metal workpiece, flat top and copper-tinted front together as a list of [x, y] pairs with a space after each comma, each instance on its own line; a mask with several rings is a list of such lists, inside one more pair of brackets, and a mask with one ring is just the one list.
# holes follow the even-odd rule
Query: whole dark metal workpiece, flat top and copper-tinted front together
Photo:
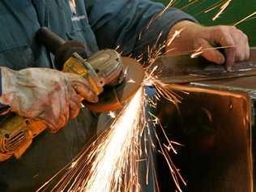
[[[232, 72], [202, 58], [160, 58], [162, 80], [181, 103], [158, 100], [157, 116], [171, 139], [184, 144], [172, 156], [190, 192], [256, 191], [256, 49]], [[175, 84], [177, 83], [177, 84]], [[158, 159], [161, 190], [172, 186]]]

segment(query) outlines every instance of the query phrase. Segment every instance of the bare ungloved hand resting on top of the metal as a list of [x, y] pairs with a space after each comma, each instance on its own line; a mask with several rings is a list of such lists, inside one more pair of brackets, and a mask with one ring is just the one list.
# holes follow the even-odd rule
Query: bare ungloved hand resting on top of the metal
[[[175, 32], [181, 32], [173, 42], [170, 42]], [[224, 54], [214, 47], [227, 47]], [[201, 48], [201, 49], [199, 49]], [[181, 21], [173, 26], [167, 41], [167, 54], [195, 53], [217, 64], [227, 65], [230, 69], [235, 61], [250, 58], [248, 38], [241, 30], [232, 26], [203, 27], [190, 21]]]

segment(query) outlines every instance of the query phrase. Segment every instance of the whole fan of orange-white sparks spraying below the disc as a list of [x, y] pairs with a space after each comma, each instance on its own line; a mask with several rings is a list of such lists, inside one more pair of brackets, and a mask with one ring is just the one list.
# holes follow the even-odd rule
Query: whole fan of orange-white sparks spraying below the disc
[[[152, 134], [160, 145], [158, 151], [167, 161], [177, 190], [181, 191], [180, 181], [186, 186], [179, 169], [175, 167], [169, 155], [170, 151], [177, 154], [173, 145], [179, 144], [169, 140], [158, 117], [152, 113], [148, 113], [149, 117], [147, 117], [146, 114], [146, 106], [156, 107], [156, 100], [160, 100], [160, 97], [171, 102], [181, 100], [177, 93], [171, 91], [169, 85], [160, 82], [156, 75], [159, 73], [157, 68], [155, 66], [152, 70], [146, 71], [146, 78], [139, 91], [117, 115], [110, 129], [101, 133], [70, 164], [66, 165], [37, 191], [49, 191], [49, 187], [53, 186], [52, 191], [139, 192], [141, 190], [139, 162], [142, 161], [147, 164], [146, 184], [148, 183], [149, 169], [152, 168], [154, 181], [156, 181], [155, 188], [156, 191], [159, 191], [155, 165], [151, 160], [152, 151], [156, 150]], [[146, 86], [155, 87], [156, 96], [153, 98], [147, 96]], [[158, 126], [160, 127], [159, 131], [164, 134], [163, 141], [156, 131]], [[62, 178], [56, 181], [60, 175]]]

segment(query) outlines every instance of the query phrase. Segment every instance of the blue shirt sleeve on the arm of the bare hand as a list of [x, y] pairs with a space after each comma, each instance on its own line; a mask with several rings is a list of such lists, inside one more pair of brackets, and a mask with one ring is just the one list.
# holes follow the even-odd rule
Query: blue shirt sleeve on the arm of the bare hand
[[125, 55], [132, 53], [138, 56], [156, 43], [162, 44], [170, 28], [181, 20], [195, 21], [192, 16], [175, 8], [169, 8], [160, 15], [163, 10], [161, 3], [149, 0], [87, 1], [89, 23], [99, 48], [115, 49], [118, 46]]

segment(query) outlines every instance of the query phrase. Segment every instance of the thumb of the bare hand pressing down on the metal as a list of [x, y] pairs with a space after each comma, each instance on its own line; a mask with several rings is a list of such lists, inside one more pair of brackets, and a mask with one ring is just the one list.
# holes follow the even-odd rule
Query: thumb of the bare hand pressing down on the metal
[[206, 58], [210, 62], [215, 62], [216, 64], [223, 64], [225, 62], [224, 55], [220, 53], [219, 50], [213, 48], [208, 41], [201, 40], [200, 47], [203, 48], [203, 58]]

